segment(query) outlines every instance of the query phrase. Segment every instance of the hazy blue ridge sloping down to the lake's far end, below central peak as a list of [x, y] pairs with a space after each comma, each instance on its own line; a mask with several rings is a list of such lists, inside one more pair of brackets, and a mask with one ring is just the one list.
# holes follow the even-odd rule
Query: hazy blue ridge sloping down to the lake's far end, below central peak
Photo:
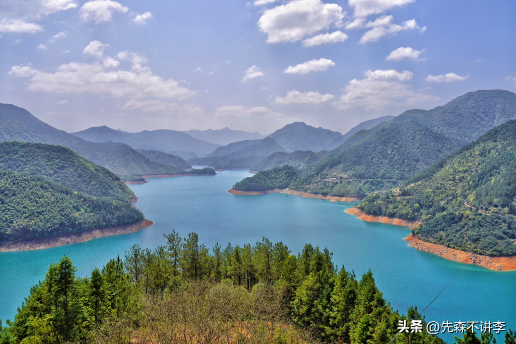
[[275, 139], [266, 137], [223, 156], [191, 159], [188, 162], [192, 165], [208, 165], [215, 169], [246, 169], [256, 165], [272, 153], [285, 151]]

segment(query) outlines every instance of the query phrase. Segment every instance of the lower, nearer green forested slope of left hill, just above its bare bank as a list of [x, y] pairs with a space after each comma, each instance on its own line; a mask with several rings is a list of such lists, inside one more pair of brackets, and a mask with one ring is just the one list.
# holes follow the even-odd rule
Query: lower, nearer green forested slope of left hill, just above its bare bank
[[0, 170], [0, 241], [54, 237], [135, 223], [125, 200], [95, 198], [42, 176]]

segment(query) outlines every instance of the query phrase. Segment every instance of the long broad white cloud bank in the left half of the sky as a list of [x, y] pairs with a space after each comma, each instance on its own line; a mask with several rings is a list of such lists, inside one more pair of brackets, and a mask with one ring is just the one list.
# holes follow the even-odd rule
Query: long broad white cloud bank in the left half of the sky
[[[93, 53], [95, 51], [93, 50]], [[99, 53], [93, 54], [99, 56]], [[179, 82], [154, 75], [149, 67], [143, 66], [147, 60], [132, 52], [121, 52], [118, 59], [130, 60], [132, 68], [107, 72], [99, 61], [93, 63], [71, 62], [62, 64], [55, 73], [45, 73], [31, 67], [15, 65], [9, 74], [31, 77], [28, 90], [66, 93], [108, 94], [114, 97], [139, 99], [146, 96], [169, 99], [185, 99], [197, 91], [179, 86]], [[104, 61], [109, 67], [115, 67], [116, 60]], [[116, 61], [116, 62], [114, 62]]]

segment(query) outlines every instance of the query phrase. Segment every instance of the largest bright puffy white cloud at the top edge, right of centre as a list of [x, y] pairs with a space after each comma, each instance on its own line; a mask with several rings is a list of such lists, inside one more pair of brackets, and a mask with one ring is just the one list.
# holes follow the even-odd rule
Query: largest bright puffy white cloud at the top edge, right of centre
[[295, 42], [315, 34], [332, 24], [340, 27], [345, 13], [337, 4], [320, 0], [293, 0], [265, 10], [258, 21], [260, 31], [267, 34], [267, 43]]

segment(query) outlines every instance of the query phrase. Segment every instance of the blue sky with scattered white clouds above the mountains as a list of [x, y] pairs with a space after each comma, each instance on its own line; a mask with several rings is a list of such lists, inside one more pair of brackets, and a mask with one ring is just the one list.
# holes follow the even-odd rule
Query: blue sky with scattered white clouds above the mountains
[[516, 91], [516, 2], [0, 0], [0, 103], [67, 132], [360, 122]]

